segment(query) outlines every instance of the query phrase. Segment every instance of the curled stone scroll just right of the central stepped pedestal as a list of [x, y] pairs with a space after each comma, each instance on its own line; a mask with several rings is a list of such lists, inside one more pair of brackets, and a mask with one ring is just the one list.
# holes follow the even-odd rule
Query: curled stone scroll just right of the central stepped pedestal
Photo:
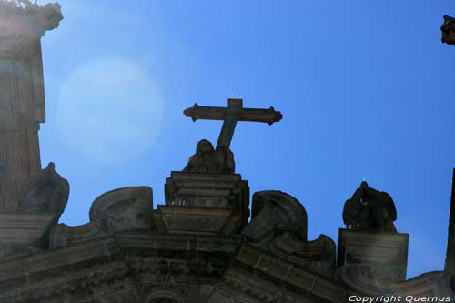
[[324, 235], [308, 241], [307, 220], [305, 208], [295, 197], [278, 190], [260, 191], [253, 195], [252, 219], [242, 234], [254, 246], [331, 276], [335, 243]]

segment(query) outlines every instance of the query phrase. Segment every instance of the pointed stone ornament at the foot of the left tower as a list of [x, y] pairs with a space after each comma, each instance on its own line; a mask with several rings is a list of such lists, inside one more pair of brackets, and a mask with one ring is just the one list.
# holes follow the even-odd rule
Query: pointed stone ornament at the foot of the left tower
[[58, 175], [54, 163], [30, 177], [20, 207], [27, 213], [63, 213], [69, 195], [69, 184]]

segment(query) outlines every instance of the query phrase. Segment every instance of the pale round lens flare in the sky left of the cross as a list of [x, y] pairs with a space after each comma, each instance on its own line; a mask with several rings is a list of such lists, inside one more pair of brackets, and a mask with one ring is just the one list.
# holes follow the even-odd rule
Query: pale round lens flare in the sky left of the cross
[[125, 162], [155, 142], [163, 109], [162, 94], [144, 69], [103, 58], [67, 79], [56, 123], [64, 142], [87, 158]]

